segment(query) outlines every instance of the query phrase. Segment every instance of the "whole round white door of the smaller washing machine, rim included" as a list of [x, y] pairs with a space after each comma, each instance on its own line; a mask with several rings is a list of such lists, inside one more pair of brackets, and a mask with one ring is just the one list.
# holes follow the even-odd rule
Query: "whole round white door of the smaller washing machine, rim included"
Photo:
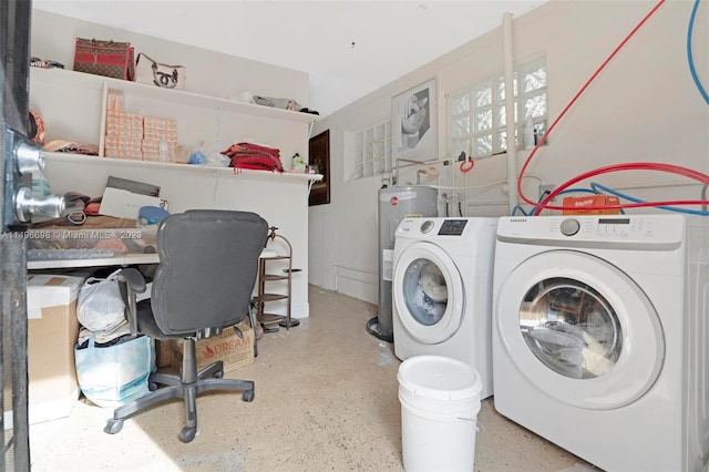
[[[417, 242], [394, 253], [391, 290], [393, 316], [419, 342], [443, 342], [463, 322], [463, 279], [451, 256], [435, 244]], [[394, 338], [397, 329], [394, 325]]]

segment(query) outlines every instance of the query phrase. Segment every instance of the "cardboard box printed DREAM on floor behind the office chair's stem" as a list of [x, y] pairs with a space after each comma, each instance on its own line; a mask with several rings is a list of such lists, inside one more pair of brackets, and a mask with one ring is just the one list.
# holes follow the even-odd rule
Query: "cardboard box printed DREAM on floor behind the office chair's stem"
[[[245, 321], [239, 322], [237, 327], [244, 338], [239, 338], [233, 328], [225, 328], [219, 336], [197, 341], [197, 370], [217, 360], [224, 362], [225, 372], [254, 363], [254, 330]], [[182, 366], [182, 342], [160, 341], [156, 351], [158, 368], [179, 369]]]

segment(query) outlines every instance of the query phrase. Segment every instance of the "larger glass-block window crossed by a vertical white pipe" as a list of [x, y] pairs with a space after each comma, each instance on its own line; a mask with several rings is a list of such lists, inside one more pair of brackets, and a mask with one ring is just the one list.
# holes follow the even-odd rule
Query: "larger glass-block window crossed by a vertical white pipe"
[[[515, 68], [514, 142], [524, 147], [523, 130], [527, 116], [532, 119], [536, 136], [547, 126], [546, 60], [537, 60]], [[507, 150], [504, 76], [474, 83], [449, 95], [450, 154], [461, 153], [473, 158], [486, 157]]]

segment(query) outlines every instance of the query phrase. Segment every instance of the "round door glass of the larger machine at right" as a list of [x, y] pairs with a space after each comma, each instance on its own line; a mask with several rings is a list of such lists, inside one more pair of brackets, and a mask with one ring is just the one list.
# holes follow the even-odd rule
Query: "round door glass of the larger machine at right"
[[520, 329], [534, 356], [573, 379], [609, 371], [623, 348], [618, 316], [593, 287], [571, 278], [531, 287], [520, 309]]

